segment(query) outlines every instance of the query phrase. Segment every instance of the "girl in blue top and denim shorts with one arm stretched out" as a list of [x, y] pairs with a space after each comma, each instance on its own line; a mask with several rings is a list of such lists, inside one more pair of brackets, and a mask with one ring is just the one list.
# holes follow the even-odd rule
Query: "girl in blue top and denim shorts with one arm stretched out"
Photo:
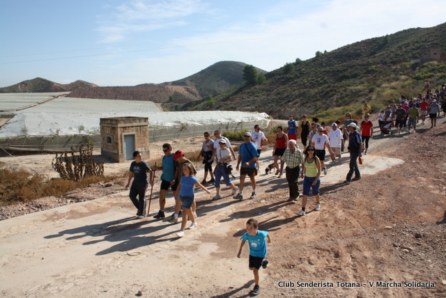
[[190, 207], [192, 207], [192, 203], [194, 202], [194, 185], [197, 185], [197, 187], [200, 187], [208, 194], [210, 194], [210, 191], [208, 191], [206, 187], [203, 187], [203, 185], [201, 185], [197, 177], [194, 176], [194, 173], [194, 166], [192, 166], [192, 164], [190, 164], [189, 162], [185, 162], [185, 164], [183, 165], [183, 177], [180, 180], [180, 185], [178, 185], [178, 188], [180, 189], [181, 205], [183, 207], [183, 221], [181, 221], [181, 230], [176, 233], [178, 237], [184, 236], [184, 230], [187, 224], [187, 216], [189, 216], [190, 221], [192, 221], [192, 224], [189, 228], [191, 229], [197, 226], [194, 212], [190, 210]]

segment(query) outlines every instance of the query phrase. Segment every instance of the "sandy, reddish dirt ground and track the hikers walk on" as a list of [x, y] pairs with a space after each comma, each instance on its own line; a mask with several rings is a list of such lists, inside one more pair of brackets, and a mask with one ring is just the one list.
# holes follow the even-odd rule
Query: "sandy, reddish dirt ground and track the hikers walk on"
[[[247, 297], [254, 286], [247, 247], [242, 258], [236, 255], [245, 222], [254, 217], [272, 238], [270, 265], [260, 272], [261, 297], [446, 297], [445, 118], [428, 127], [372, 139], [362, 180], [351, 185], [342, 183], [344, 153], [321, 178], [321, 210], [313, 210], [310, 197], [305, 217], [296, 215], [300, 201], [286, 201], [285, 178], [262, 170], [255, 200], [234, 201], [226, 187], [219, 201], [197, 191], [199, 226], [183, 238], [175, 235], [179, 224], [152, 218], [158, 180], [145, 219], [135, 219], [128, 191], [118, 189], [0, 221], [1, 296], [134, 297], [142, 291], [147, 297]], [[192, 151], [200, 141], [172, 143], [174, 150]], [[44, 159], [51, 158], [0, 162], [49, 175]], [[270, 162], [271, 151], [262, 152], [261, 168]], [[127, 168], [106, 164], [106, 173]], [[247, 183], [246, 197], [250, 191]], [[169, 194], [167, 205], [173, 204]]]

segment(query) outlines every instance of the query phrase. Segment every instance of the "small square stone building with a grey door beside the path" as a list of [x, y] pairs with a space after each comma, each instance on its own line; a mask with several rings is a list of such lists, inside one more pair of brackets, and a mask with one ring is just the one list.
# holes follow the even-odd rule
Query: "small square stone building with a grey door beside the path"
[[101, 154], [116, 162], [133, 159], [133, 152], [141, 151], [149, 157], [148, 118], [100, 118]]

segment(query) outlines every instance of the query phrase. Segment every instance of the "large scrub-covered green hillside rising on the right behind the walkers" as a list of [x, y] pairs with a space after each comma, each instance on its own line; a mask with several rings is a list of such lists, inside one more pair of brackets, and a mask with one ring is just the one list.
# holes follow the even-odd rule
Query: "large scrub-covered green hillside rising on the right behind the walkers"
[[[364, 100], [372, 109], [385, 107], [401, 94], [414, 96], [430, 81], [431, 88], [446, 82], [446, 64], [411, 63], [424, 49], [446, 52], [446, 23], [416, 28], [346, 45], [314, 58], [299, 58], [266, 74], [263, 84], [242, 84], [183, 109], [265, 111], [275, 117], [289, 113], [336, 116], [344, 109], [359, 110]], [[444, 57], [444, 56], [443, 56]], [[443, 58], [445, 61], [445, 58]], [[346, 108], [344, 108], [346, 107]]]

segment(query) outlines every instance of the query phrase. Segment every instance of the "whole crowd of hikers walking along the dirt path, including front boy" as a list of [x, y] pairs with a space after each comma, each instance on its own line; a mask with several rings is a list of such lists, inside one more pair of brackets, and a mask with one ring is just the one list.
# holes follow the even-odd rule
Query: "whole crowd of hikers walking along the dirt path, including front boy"
[[[392, 102], [387, 110], [381, 110], [378, 114], [378, 125], [382, 130], [387, 119], [390, 118], [392, 125], [396, 126], [401, 132], [402, 127], [406, 127], [408, 120], [408, 128], [413, 126], [414, 132], [416, 125], [424, 125], [425, 118], [429, 114], [431, 119], [431, 127], [436, 127], [436, 118], [440, 116], [440, 109], [446, 113], [445, 86], [442, 86], [442, 94], [424, 96], [419, 94], [413, 99], [407, 100], [405, 96], [401, 96], [399, 103]], [[275, 144], [272, 150], [273, 162], [266, 167], [268, 172], [275, 172], [275, 175], [282, 177], [285, 166], [285, 177], [289, 186], [288, 201], [298, 201], [300, 196], [298, 188], [298, 179], [302, 178], [302, 209], [298, 212], [299, 216], [306, 214], [307, 198], [310, 190], [315, 197], [315, 211], [321, 209], [319, 187], [321, 185], [320, 176], [322, 173], [327, 175], [328, 170], [325, 165], [325, 156], [330, 157], [332, 164], [341, 162], [341, 153], [345, 148], [350, 155], [349, 171], [346, 175], [344, 183], [350, 184], [353, 180], [360, 180], [361, 173], [358, 168], [358, 161], [361, 164], [362, 154], [367, 155], [369, 149], [369, 140], [373, 138], [374, 124], [370, 120], [371, 107], [367, 102], [361, 107], [361, 121], [353, 120], [351, 113], [345, 114], [345, 119], [337, 120], [328, 127], [326, 123], [318, 123], [318, 118], [312, 118], [310, 122], [307, 116], [302, 116], [302, 120], [298, 123], [293, 116], [289, 116], [287, 123], [287, 133], [284, 127], [277, 127], [275, 136]], [[300, 134], [298, 134], [300, 132]], [[215, 130], [215, 139], [210, 138], [210, 134], [203, 134], [204, 141], [202, 144], [200, 155], [203, 157], [204, 178], [201, 182], [196, 177], [197, 170], [194, 164], [185, 158], [185, 152], [182, 150], [172, 149], [169, 143], [162, 145], [164, 157], [162, 157], [161, 166], [149, 166], [142, 160], [141, 152], [135, 151], [134, 162], [130, 165], [128, 189], [130, 187], [130, 199], [137, 208], [137, 217], [146, 217], [146, 199], [145, 194], [148, 184], [153, 187], [153, 178], [155, 171], [162, 171], [160, 176], [160, 210], [155, 215], [155, 219], [166, 219], [171, 224], [178, 223], [178, 217], [183, 214], [181, 227], [176, 235], [183, 237], [187, 220], [190, 219], [189, 228], [197, 227], [197, 204], [194, 200], [194, 187], [199, 187], [210, 194], [210, 190], [206, 188], [207, 184], [214, 184], [216, 194], [213, 200], [222, 198], [220, 194], [221, 183], [229, 187], [232, 191], [233, 199], [243, 200], [243, 189], [245, 187], [246, 175], [252, 185], [252, 193], [249, 198], [254, 199], [256, 192], [256, 175], [259, 171], [259, 157], [263, 148], [263, 143], [268, 141], [265, 134], [261, 132], [260, 125], [254, 126], [254, 131], [245, 132], [244, 142], [238, 148], [238, 155], [234, 152], [231, 142], [222, 136], [220, 130]], [[298, 148], [298, 139], [301, 140], [303, 150]], [[348, 143], [348, 145], [347, 145]], [[336, 158], [337, 157], [337, 158]], [[232, 182], [232, 165], [236, 162], [236, 171], [240, 171], [239, 186]], [[215, 166], [213, 167], [215, 163]], [[279, 165], [280, 163], [280, 165]], [[149, 182], [147, 180], [149, 173]], [[210, 177], [210, 180], [206, 179]], [[166, 205], [167, 191], [174, 193], [175, 211], [170, 217], [166, 218], [164, 208]], [[266, 242], [270, 242], [270, 235], [266, 231], [259, 230], [259, 224], [256, 219], [249, 219], [246, 223], [247, 233], [240, 239], [240, 249], [238, 258], [242, 252], [246, 241], [249, 243], [249, 269], [254, 272], [254, 289], [249, 292], [255, 296], [259, 294], [259, 269], [266, 268], [268, 260], [266, 260]]]

